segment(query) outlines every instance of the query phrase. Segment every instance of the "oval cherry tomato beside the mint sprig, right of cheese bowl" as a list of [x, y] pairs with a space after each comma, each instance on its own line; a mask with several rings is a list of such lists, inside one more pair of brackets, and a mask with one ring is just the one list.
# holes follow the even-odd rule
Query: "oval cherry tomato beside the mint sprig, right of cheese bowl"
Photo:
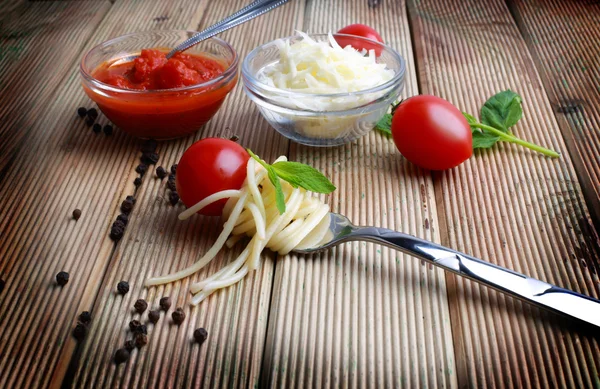
[[392, 135], [400, 153], [425, 169], [451, 169], [473, 154], [469, 123], [454, 105], [436, 96], [403, 101], [392, 117]]

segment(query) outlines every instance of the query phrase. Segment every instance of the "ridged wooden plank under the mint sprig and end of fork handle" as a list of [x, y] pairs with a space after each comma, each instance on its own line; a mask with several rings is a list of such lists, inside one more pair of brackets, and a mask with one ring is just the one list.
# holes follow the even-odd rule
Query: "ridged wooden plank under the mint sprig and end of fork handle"
[[[421, 91], [477, 113], [494, 93], [523, 96], [515, 133], [562, 152], [550, 160], [513, 145], [477, 152], [436, 174], [442, 242], [598, 297], [596, 231], [533, 60], [506, 4], [411, 1]], [[448, 276], [461, 387], [593, 387], [598, 339], [577, 323]]]

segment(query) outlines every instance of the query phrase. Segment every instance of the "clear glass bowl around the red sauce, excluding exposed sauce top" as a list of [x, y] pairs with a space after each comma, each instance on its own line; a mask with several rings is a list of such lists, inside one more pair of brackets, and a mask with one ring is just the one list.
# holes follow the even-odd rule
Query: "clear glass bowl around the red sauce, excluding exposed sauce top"
[[147, 48], [175, 47], [194, 31], [148, 31], [111, 39], [82, 59], [83, 89], [106, 117], [123, 131], [140, 138], [172, 139], [192, 134], [209, 121], [237, 82], [238, 56], [225, 41], [207, 39], [186, 50], [220, 62], [225, 71], [207, 82], [160, 90], [122, 89], [93, 77], [100, 65], [118, 62]]

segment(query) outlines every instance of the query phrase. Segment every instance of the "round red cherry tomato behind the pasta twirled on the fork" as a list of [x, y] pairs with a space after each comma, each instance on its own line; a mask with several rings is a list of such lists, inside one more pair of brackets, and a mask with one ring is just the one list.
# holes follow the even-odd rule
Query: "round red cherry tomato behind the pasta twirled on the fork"
[[[179, 160], [175, 184], [186, 207], [213, 193], [240, 189], [246, 179], [248, 152], [228, 139], [205, 138], [191, 145]], [[198, 213], [220, 215], [227, 200], [213, 203]]]

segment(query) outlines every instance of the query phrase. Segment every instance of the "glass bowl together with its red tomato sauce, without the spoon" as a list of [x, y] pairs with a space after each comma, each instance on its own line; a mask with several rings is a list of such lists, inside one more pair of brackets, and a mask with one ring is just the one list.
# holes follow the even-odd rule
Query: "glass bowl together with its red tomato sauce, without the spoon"
[[80, 64], [85, 93], [111, 122], [139, 138], [195, 133], [237, 83], [238, 55], [227, 42], [211, 38], [166, 59], [194, 34], [139, 32], [99, 44]]

